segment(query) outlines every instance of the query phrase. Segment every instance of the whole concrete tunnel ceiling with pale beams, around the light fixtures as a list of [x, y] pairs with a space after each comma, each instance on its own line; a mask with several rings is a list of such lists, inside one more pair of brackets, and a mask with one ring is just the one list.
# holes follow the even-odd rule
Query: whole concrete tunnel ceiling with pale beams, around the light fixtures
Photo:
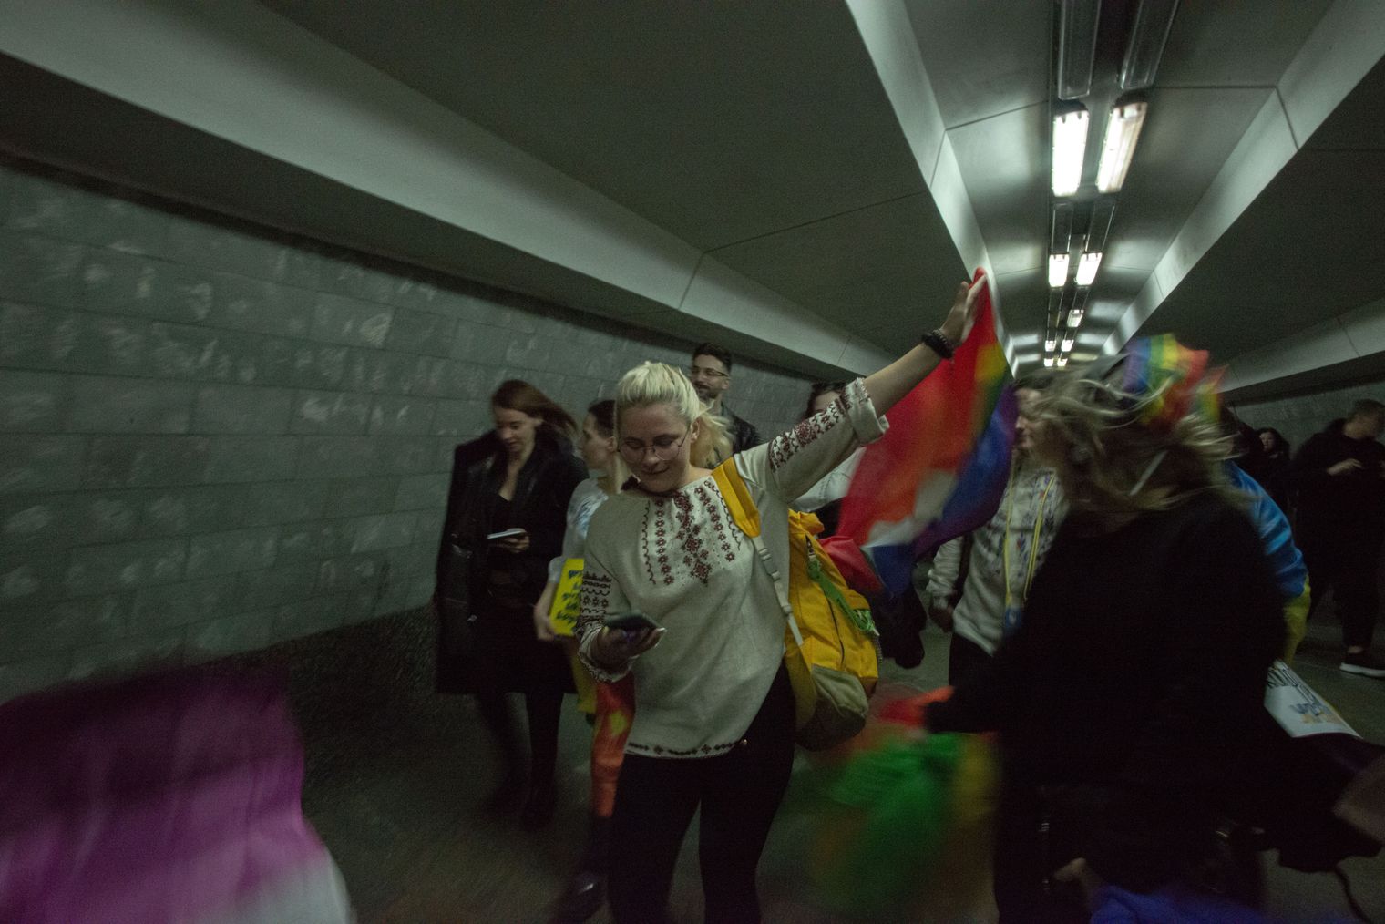
[[[981, 265], [1022, 364], [1054, 10], [0, 0], [32, 93], [0, 144], [806, 374], [899, 352]], [[1174, 330], [1235, 360], [1385, 298], [1382, 48], [1363, 0], [1180, 4], [1073, 359]]]

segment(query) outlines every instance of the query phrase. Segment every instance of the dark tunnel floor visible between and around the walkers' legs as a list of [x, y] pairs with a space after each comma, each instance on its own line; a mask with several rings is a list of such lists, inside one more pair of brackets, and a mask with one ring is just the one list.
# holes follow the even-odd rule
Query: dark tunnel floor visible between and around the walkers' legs
[[[1337, 670], [1335, 625], [1310, 626], [1299, 673], [1374, 741], [1385, 741], [1385, 682]], [[947, 636], [929, 629], [914, 670], [889, 665], [881, 697], [939, 686]], [[370, 695], [363, 695], [368, 700]], [[384, 697], [382, 697], [384, 698]], [[422, 704], [422, 705], [421, 705]], [[561, 738], [561, 808], [542, 834], [481, 808], [494, 783], [470, 700], [409, 700], [352, 709], [349, 722], [305, 718], [305, 809], [341, 866], [360, 920], [544, 921], [584, 834], [587, 726], [571, 711]], [[337, 709], [331, 709], [337, 712]], [[694, 828], [695, 830], [695, 828]], [[803, 821], [781, 817], [760, 866], [767, 921], [838, 920], [813, 905], [801, 869]], [[1269, 866], [1269, 907], [1288, 921], [1355, 920], [1337, 880]], [[1385, 856], [1345, 864], [1357, 900], [1385, 921]], [[695, 837], [679, 864], [674, 920], [701, 920]], [[988, 920], [985, 907], [972, 920]], [[608, 921], [602, 912], [593, 921]]]

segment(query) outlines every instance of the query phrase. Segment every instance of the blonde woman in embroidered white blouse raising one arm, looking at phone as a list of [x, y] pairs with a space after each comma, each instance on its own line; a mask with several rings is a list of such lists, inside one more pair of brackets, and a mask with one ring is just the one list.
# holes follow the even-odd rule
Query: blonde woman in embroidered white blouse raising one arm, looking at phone
[[[781, 572], [788, 504], [884, 432], [881, 414], [965, 338], [982, 284], [963, 284], [942, 327], [902, 359], [727, 463], [751, 492]], [[645, 363], [626, 373], [616, 447], [634, 483], [596, 513], [587, 533], [580, 654], [598, 679], [634, 675], [608, 884], [622, 923], [668, 918], [673, 866], [695, 812], [706, 920], [759, 920], [755, 869], [794, 759], [784, 614], [712, 472], [694, 461], [706, 427], [680, 370]], [[658, 628], [604, 625], [638, 621], [632, 611]]]

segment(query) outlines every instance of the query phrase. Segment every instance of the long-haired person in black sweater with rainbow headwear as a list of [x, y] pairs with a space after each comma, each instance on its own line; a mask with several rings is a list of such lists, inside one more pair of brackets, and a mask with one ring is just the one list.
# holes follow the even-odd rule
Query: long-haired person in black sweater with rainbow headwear
[[1270, 565], [1222, 474], [1230, 443], [1194, 410], [1201, 363], [1159, 367], [1132, 348], [1036, 402], [1035, 452], [1071, 513], [1018, 632], [927, 713], [935, 731], [1000, 731], [1003, 921], [1087, 920], [1101, 882], [1192, 878], [1245, 785], [1284, 639]]

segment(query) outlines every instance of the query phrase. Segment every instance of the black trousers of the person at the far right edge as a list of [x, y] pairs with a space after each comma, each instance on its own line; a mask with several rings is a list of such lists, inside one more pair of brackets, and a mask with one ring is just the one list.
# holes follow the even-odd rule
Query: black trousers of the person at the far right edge
[[1299, 536], [1299, 547], [1313, 593], [1310, 612], [1317, 610], [1317, 601], [1331, 587], [1337, 616], [1342, 621], [1342, 644], [1348, 648], [1370, 648], [1379, 610], [1377, 574], [1381, 540], [1375, 536], [1313, 529]]

